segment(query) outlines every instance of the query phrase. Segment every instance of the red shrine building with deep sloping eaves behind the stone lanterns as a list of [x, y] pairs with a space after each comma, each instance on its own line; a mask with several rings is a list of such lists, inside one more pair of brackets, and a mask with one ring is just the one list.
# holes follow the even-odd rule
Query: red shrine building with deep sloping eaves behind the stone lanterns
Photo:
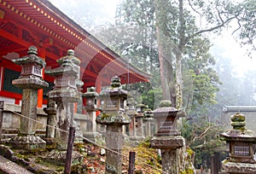
[[[113, 50], [86, 32], [47, 0], [0, 0], [0, 100], [20, 105], [22, 90], [12, 85], [20, 76], [20, 66], [12, 60], [27, 55], [30, 46], [38, 48], [38, 56], [46, 67], [59, 67], [56, 60], [73, 49], [81, 61], [82, 92], [95, 86], [110, 84], [113, 76], [121, 83], [148, 82], [148, 73], [128, 64]], [[128, 65], [128, 68], [127, 68]], [[49, 88], [38, 90], [38, 107], [47, 103], [47, 91], [54, 85], [54, 78], [44, 74]]]

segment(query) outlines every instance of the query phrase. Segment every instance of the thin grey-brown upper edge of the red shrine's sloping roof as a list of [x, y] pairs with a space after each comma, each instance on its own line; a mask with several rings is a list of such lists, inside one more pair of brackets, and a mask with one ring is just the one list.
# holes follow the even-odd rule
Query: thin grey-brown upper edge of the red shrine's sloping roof
[[[90, 40], [91, 43], [96, 44], [101, 49], [104, 49], [109, 55], [112, 55], [117, 61], [119, 61], [121, 64], [123, 64], [124, 67], [127, 67], [128, 61], [125, 61], [124, 58], [122, 58], [120, 55], [115, 53], [112, 49], [109, 49], [107, 45], [103, 44], [100, 40], [98, 40], [96, 37], [91, 35], [89, 32], [85, 31], [82, 26], [79, 26], [74, 20], [70, 19], [66, 14], [61, 12], [60, 9], [57, 9], [52, 3], [50, 3], [48, 0], [38, 0], [38, 3], [41, 3], [41, 5], [45, 6], [47, 9], [52, 11], [53, 13], [57, 14], [60, 18], [63, 20], [66, 20], [67, 23], [69, 23], [71, 26], [73, 26], [77, 31], [82, 33], [86, 39]], [[140, 76], [143, 76], [141, 80], [138, 81], [145, 81], [149, 82], [149, 79], [152, 78], [152, 74], [145, 73], [138, 69], [137, 67], [133, 66], [132, 64], [129, 64], [130, 71], [133, 71], [134, 73], [137, 73]]]

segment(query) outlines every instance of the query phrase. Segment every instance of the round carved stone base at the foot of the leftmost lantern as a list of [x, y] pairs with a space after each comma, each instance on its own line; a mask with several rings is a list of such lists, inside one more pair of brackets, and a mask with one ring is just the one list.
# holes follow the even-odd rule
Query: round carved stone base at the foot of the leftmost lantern
[[25, 149], [25, 150], [44, 150], [46, 142], [39, 137], [33, 135], [15, 136], [9, 141], [9, 144], [13, 148]]

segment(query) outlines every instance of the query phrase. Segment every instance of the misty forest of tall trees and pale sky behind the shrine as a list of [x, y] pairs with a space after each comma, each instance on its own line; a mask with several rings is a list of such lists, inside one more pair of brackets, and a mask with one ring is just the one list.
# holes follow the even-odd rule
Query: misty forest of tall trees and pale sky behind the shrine
[[181, 131], [195, 167], [209, 165], [223, 147], [222, 107], [256, 105], [256, 68], [233, 67], [212, 42], [232, 37], [227, 44], [236, 40], [247, 50], [241, 59], [255, 59], [255, 0], [119, 0], [111, 21], [101, 0], [50, 2], [126, 59], [127, 68], [153, 75], [150, 83], [124, 85], [137, 102], [154, 110], [168, 99], [186, 111]]

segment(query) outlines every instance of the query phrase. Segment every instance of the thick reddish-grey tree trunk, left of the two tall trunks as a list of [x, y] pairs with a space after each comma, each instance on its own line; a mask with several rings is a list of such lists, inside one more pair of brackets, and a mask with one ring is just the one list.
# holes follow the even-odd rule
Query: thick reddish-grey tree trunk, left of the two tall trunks
[[[168, 3], [168, 2], [167, 2]], [[155, 0], [155, 17], [157, 28], [157, 43], [160, 61], [160, 78], [163, 88], [163, 97], [172, 101], [172, 106], [176, 105], [175, 82], [172, 67], [172, 52], [170, 35], [166, 31], [166, 0]]]

